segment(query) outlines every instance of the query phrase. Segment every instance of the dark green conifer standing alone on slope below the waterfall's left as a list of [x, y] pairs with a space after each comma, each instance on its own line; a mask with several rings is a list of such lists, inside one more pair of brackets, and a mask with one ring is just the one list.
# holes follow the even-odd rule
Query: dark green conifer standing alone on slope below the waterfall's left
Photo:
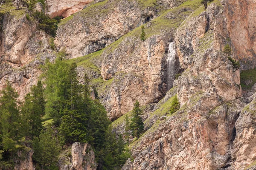
[[140, 134], [143, 133], [144, 124], [143, 120], [140, 117], [142, 110], [140, 108], [140, 103], [136, 100], [134, 103], [134, 108], [132, 109], [132, 119], [131, 119], [131, 130], [132, 136], [136, 136], [139, 139]]

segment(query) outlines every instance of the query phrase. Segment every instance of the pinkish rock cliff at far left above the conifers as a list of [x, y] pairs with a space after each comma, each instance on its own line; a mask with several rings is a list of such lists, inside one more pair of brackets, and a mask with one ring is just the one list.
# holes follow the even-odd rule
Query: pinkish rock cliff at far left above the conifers
[[55, 59], [55, 53], [49, 35], [39, 30], [35, 21], [27, 20], [24, 13], [6, 13], [1, 22], [0, 89], [9, 81], [22, 99], [38, 81], [38, 65], [44, 64], [46, 58]]

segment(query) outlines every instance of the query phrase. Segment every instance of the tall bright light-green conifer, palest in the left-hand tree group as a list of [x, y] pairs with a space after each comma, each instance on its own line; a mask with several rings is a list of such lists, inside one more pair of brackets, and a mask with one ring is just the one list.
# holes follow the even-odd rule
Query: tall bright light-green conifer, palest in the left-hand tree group
[[61, 51], [55, 59], [55, 63], [47, 61], [43, 67], [45, 83], [47, 85], [45, 92], [47, 103], [45, 112], [53, 119], [54, 125], [61, 124], [61, 117], [70, 101], [70, 79], [68, 71], [70, 64], [65, 60], [65, 52]]

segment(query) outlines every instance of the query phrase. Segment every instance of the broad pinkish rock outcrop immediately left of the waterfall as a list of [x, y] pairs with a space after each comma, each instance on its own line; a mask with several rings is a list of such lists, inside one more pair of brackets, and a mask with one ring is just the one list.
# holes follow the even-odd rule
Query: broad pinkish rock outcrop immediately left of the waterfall
[[145, 105], [164, 95], [166, 41], [162, 36], [152, 36], [145, 42], [128, 37], [113, 53], [102, 54], [102, 77], [113, 78], [110, 92], [103, 96], [111, 119], [130, 111], [135, 100]]

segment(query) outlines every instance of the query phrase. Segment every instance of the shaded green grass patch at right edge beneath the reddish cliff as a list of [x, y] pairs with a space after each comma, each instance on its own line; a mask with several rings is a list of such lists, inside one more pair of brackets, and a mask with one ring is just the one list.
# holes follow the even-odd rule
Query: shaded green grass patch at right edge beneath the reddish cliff
[[256, 68], [250, 70], [243, 70], [240, 74], [240, 77], [242, 89], [244, 91], [249, 90], [256, 83]]

